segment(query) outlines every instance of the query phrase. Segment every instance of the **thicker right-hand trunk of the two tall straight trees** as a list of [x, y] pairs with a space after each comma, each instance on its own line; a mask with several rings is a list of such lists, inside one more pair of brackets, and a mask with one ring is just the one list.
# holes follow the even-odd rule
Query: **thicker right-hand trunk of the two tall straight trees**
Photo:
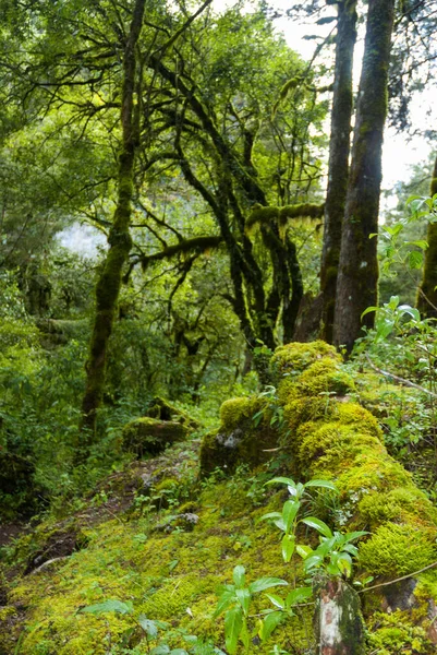
[[[394, 0], [369, 0], [337, 281], [333, 342], [350, 352], [377, 303], [381, 151]], [[372, 326], [374, 314], [364, 319]]]

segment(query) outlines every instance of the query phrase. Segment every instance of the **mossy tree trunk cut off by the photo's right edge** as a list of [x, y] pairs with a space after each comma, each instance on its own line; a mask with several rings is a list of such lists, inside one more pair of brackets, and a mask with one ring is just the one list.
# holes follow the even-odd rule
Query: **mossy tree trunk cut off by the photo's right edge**
[[[434, 163], [430, 195], [437, 193], [437, 157]], [[429, 223], [427, 231], [428, 249], [425, 252], [425, 266], [422, 284], [418, 287], [417, 309], [423, 317], [437, 318], [437, 223]]]

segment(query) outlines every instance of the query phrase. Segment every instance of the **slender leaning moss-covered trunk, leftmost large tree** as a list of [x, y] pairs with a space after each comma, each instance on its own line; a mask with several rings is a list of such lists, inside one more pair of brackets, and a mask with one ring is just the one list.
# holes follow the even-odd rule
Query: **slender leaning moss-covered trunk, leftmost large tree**
[[92, 442], [95, 437], [96, 413], [101, 404], [105, 385], [108, 341], [112, 332], [123, 265], [132, 247], [129, 227], [134, 188], [135, 150], [138, 139], [134, 109], [137, 83], [135, 48], [143, 25], [144, 8], [145, 0], [136, 0], [124, 48], [121, 98], [122, 145], [119, 157], [118, 199], [108, 238], [109, 250], [96, 286], [96, 314], [86, 362], [86, 389], [82, 401], [81, 434], [85, 444]]

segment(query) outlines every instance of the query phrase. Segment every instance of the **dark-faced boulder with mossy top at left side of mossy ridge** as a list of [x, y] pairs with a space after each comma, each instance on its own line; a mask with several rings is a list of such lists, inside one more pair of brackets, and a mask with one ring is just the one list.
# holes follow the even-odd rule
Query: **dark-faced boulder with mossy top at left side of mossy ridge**
[[270, 417], [271, 409], [264, 397], [226, 401], [220, 408], [219, 429], [202, 442], [201, 475], [216, 468], [233, 473], [241, 464], [253, 469], [267, 462], [279, 436]]

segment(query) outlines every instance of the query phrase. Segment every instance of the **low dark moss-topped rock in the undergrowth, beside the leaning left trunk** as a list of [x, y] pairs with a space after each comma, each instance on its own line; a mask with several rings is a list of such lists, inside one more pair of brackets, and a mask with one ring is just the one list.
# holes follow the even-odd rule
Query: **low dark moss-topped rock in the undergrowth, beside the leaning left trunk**
[[136, 418], [124, 426], [122, 448], [137, 457], [161, 453], [169, 444], [183, 441], [189, 429], [171, 420], [155, 418]]

